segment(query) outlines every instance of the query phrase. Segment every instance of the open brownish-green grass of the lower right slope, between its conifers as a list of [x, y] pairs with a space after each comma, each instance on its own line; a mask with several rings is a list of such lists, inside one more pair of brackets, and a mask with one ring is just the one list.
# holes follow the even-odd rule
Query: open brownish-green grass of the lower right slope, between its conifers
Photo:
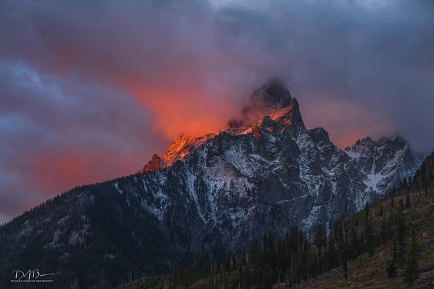
[[[379, 230], [383, 217], [378, 216], [380, 206], [383, 205], [383, 216], [392, 213], [399, 204], [399, 199], [406, 200], [406, 195], [394, 198], [395, 207], [390, 206], [390, 200], [377, 202], [371, 207], [371, 213], [374, 214], [376, 231]], [[421, 249], [421, 258], [419, 260], [420, 277], [411, 288], [417, 289], [434, 289], [434, 189], [428, 191], [428, 196], [424, 192], [412, 193], [410, 198], [414, 201], [413, 208], [406, 209], [406, 220], [412, 222], [415, 226], [417, 241]], [[355, 222], [358, 219], [358, 229], [362, 230], [363, 219], [365, 216], [361, 211], [351, 216], [346, 221], [346, 225]], [[409, 234], [408, 234], [409, 235]], [[410, 243], [410, 236], [407, 238]], [[399, 270], [398, 277], [388, 279], [385, 272], [385, 263], [390, 259], [390, 242], [376, 248], [372, 258], [367, 254], [362, 254], [356, 260], [349, 262], [349, 279], [344, 280], [342, 268], [335, 268], [309, 281], [293, 286], [292, 288], [321, 288], [321, 289], [338, 289], [338, 288], [363, 288], [363, 289], [386, 289], [386, 288], [408, 288], [403, 285], [402, 270]], [[119, 287], [122, 289], [142, 289], [142, 288], [168, 288], [168, 277], [149, 277], [129, 283]], [[212, 278], [201, 279], [190, 286], [191, 289], [212, 289]], [[231, 288], [231, 276], [229, 274], [226, 288]], [[217, 282], [217, 289], [221, 289], [222, 284]], [[278, 289], [278, 284], [274, 285]], [[281, 288], [285, 284], [281, 283]]]

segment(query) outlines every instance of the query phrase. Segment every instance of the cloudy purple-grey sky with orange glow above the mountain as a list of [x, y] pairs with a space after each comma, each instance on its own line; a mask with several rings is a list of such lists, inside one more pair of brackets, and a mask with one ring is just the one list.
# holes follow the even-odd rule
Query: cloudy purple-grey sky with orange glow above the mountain
[[433, 1], [0, 1], [0, 223], [219, 130], [274, 76], [341, 148], [434, 150]]

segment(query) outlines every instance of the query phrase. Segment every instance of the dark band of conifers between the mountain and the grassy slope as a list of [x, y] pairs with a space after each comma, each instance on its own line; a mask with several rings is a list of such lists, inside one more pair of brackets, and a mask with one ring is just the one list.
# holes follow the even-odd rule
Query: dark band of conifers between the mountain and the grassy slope
[[[404, 202], [403, 197], [406, 198]], [[393, 197], [372, 207], [367, 204], [362, 217], [335, 220], [328, 225], [317, 225], [306, 233], [292, 227], [285, 236], [271, 231], [262, 240], [254, 240], [243, 254], [227, 254], [221, 261], [213, 260], [204, 250], [194, 265], [181, 270], [174, 268], [170, 275], [172, 288], [188, 288], [194, 281], [208, 279], [217, 288], [291, 288], [301, 281], [310, 281], [324, 272], [340, 268], [342, 277], [349, 277], [349, 261], [367, 253], [370, 258], [376, 248], [391, 244], [390, 259], [385, 264], [389, 278], [404, 277], [412, 284], [418, 277], [419, 245], [415, 229], [406, 220], [405, 210], [410, 209], [410, 195], [401, 196], [398, 204]], [[411, 236], [410, 243], [407, 237]]]

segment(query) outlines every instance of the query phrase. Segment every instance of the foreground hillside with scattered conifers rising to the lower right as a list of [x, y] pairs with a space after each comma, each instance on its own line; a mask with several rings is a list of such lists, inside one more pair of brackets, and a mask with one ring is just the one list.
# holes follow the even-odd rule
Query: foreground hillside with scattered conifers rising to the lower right
[[[399, 259], [399, 256], [393, 257], [394, 244], [397, 242], [396, 232], [392, 227], [398, 227], [398, 221], [393, 220], [394, 225], [390, 227], [390, 216], [398, 216], [399, 206], [403, 208], [403, 216], [405, 217], [406, 232], [402, 255], [403, 266], [397, 264], [397, 276], [388, 277], [387, 263], [394, 258]], [[349, 218], [344, 223], [344, 231], [351, 231], [356, 228], [358, 236], [363, 234], [366, 211], [361, 211]], [[386, 288], [418, 288], [432, 289], [434, 288], [434, 189], [412, 192], [404, 195], [399, 195], [388, 200], [377, 202], [369, 208], [369, 218], [373, 220], [373, 235], [375, 243], [381, 243], [381, 239], [385, 238], [383, 244], [372, 249], [372, 252], [364, 252], [355, 259], [347, 263], [347, 279], [344, 278], [343, 265], [337, 266], [332, 270], [328, 270], [324, 274], [314, 278], [307, 278], [298, 283], [287, 283], [285, 274], [281, 276], [281, 283], [270, 284], [264, 283], [251, 284], [244, 286], [243, 270], [249, 268], [247, 263], [238, 265], [238, 268], [233, 270], [218, 270], [217, 273], [205, 274], [203, 277], [190, 280], [189, 284], [176, 281], [175, 273], [167, 276], [150, 277], [140, 279], [125, 286], [119, 287], [122, 289], [142, 289], [142, 288], [191, 288], [191, 289], [213, 289], [213, 288], [371, 288], [371, 289], [386, 289]], [[357, 225], [357, 226], [355, 226]], [[405, 284], [406, 267], [410, 255], [410, 245], [412, 243], [412, 231], [415, 232], [415, 240], [417, 241], [418, 258], [417, 258], [417, 279], [411, 285]], [[384, 236], [388, 234], [390, 236]], [[348, 235], [351, 235], [348, 233]], [[330, 240], [330, 239], [328, 239]], [[314, 242], [315, 243], [315, 242]], [[351, 244], [351, 236], [348, 237], [348, 243]], [[315, 245], [312, 245], [315, 246]], [[396, 246], [396, 245], [395, 245]], [[351, 248], [351, 245], [349, 245]], [[396, 247], [395, 247], [395, 250]], [[369, 251], [369, 249], [368, 249]], [[371, 253], [371, 254], [370, 254]], [[253, 256], [252, 256], [253, 257]], [[318, 260], [320, 261], [320, 260]], [[398, 261], [397, 261], [398, 262]], [[233, 261], [231, 265], [233, 266]], [[242, 264], [242, 262], [240, 262]], [[310, 266], [309, 268], [315, 268]], [[255, 269], [253, 269], [255, 270]], [[311, 270], [311, 269], [309, 269]], [[185, 271], [188, 274], [188, 270]], [[259, 273], [258, 273], [259, 274]], [[260, 272], [264, 274], [264, 272]], [[313, 272], [311, 272], [313, 274]], [[186, 276], [186, 275], [185, 275]], [[181, 277], [182, 279], [182, 277]]]

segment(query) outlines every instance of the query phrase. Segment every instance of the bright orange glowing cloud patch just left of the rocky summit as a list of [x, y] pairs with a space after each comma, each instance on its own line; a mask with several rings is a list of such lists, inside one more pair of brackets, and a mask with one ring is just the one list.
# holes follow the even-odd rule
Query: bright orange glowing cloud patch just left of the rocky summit
[[129, 85], [133, 97], [156, 117], [153, 129], [168, 139], [215, 132], [226, 125], [238, 107], [228, 96], [197, 87], [151, 87]]

